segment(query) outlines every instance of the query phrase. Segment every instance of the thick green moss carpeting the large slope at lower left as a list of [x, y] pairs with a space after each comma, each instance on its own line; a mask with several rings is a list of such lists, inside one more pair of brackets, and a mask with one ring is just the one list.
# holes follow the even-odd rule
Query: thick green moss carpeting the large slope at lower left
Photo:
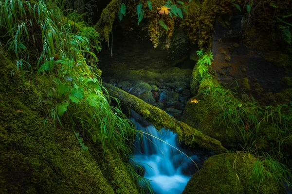
[[[15, 75], [14, 64], [0, 58], [0, 193], [100, 193], [114, 194], [120, 180], [125, 194], [138, 190], [119, 154], [110, 145], [106, 155], [100, 141], [83, 136], [90, 153], [80, 150], [72, 126], [54, 128], [47, 103], [38, 103], [46, 80], [36, 75], [35, 85]], [[24, 88], [26, 87], [26, 88]], [[77, 127], [77, 126], [76, 126]], [[80, 127], [80, 126], [79, 126]], [[79, 128], [78, 127], [78, 128]]]

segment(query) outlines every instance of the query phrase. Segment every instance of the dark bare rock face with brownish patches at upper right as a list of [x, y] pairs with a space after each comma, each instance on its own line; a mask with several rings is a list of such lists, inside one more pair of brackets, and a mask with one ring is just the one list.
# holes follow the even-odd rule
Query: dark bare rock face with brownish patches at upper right
[[[276, 37], [272, 38], [271, 33], [263, 34], [253, 29], [245, 32], [245, 19], [236, 15], [227, 21], [219, 18], [215, 22], [212, 68], [223, 84], [242, 88], [237, 92], [242, 93], [244, 90], [255, 98], [261, 97], [263, 93], [291, 88], [282, 81], [283, 77], [292, 76], [291, 72], [283, 68], [283, 66], [289, 67], [287, 62], [292, 56], [279, 51], [285, 50], [283, 49], [285, 45], [281, 46], [280, 40], [276, 39], [281, 37], [281, 34], [273, 34]], [[251, 40], [250, 37], [254, 37], [255, 40]], [[264, 45], [266, 47], [261, 48]]]

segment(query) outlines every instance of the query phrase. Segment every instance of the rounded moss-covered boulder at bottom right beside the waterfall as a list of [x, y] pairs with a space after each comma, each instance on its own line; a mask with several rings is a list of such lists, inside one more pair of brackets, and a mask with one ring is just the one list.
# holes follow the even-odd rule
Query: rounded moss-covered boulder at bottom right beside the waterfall
[[226, 153], [207, 159], [187, 183], [183, 194], [280, 194], [273, 181], [252, 181], [255, 157]]

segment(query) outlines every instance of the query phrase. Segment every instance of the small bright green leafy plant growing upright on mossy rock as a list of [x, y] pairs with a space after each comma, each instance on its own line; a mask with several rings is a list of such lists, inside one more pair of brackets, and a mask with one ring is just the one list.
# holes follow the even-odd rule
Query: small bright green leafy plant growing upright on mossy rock
[[201, 77], [204, 77], [208, 71], [207, 65], [211, 65], [211, 61], [213, 60], [213, 54], [211, 50], [209, 53], [204, 53], [203, 49], [197, 51], [197, 55], [199, 56], [199, 60], [197, 62], [199, 73]]

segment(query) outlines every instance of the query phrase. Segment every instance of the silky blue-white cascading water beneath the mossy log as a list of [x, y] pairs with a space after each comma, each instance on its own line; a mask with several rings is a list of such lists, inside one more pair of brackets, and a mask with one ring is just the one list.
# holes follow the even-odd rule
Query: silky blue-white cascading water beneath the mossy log
[[[164, 142], [179, 148], [177, 135], [169, 130], [157, 131], [137, 113], [131, 112], [131, 120], [136, 129], [151, 134]], [[186, 183], [196, 171], [196, 165], [183, 153], [167, 145], [163, 141], [149, 135], [136, 139], [134, 146], [134, 161], [140, 162], [145, 168], [145, 178], [148, 178], [155, 194], [181, 194]], [[190, 158], [202, 163], [193, 155]]]

